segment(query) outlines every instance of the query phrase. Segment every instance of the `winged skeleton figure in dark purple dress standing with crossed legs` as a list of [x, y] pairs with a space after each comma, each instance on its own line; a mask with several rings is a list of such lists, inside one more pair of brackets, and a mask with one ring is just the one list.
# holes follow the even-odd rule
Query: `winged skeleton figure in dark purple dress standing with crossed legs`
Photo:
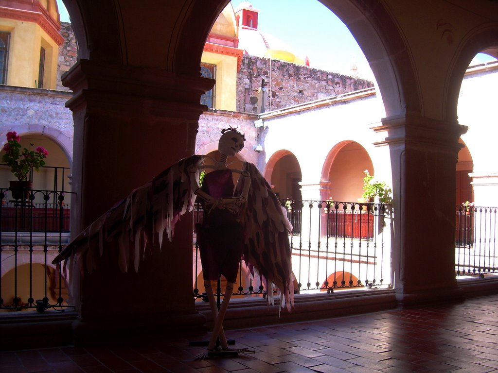
[[[133, 265], [135, 272], [143, 260], [145, 247], [157, 234], [159, 245], [166, 231], [169, 240], [180, 215], [191, 211], [199, 197], [205, 209], [197, 226], [201, 262], [215, 325], [208, 351], [220, 341], [228, 349], [223, 320], [232, 295], [241, 256], [249, 270], [265, 281], [267, 299], [273, 304], [273, 288], [280, 292], [280, 305], [290, 310], [293, 303], [293, 275], [288, 239], [289, 222], [280, 202], [257, 168], [243, 162], [242, 170], [231, 169], [227, 157], [244, 147], [244, 135], [230, 128], [222, 131], [219, 141], [220, 161], [203, 166], [205, 156], [185, 158], [151, 182], [134, 189], [80, 233], [54, 259], [54, 264], [76, 260], [81, 275], [92, 273], [94, 258], [102, 255], [105, 242], [117, 240], [117, 262], [122, 272]], [[213, 169], [199, 187], [201, 170]], [[233, 173], [239, 173], [234, 190]], [[93, 243], [91, 244], [91, 241]], [[218, 310], [211, 281], [220, 275], [227, 279], [223, 303]]]

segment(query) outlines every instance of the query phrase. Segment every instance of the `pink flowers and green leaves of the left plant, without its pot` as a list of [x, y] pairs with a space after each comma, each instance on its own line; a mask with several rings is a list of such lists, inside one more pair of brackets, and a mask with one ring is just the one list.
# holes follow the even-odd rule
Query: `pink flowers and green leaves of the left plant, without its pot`
[[23, 148], [20, 136], [15, 131], [7, 132], [7, 142], [3, 145], [3, 154], [1, 160], [10, 167], [10, 171], [19, 181], [27, 180], [31, 170], [39, 171], [40, 167], [45, 166], [44, 159], [48, 156], [45, 148], [39, 146], [35, 150]]

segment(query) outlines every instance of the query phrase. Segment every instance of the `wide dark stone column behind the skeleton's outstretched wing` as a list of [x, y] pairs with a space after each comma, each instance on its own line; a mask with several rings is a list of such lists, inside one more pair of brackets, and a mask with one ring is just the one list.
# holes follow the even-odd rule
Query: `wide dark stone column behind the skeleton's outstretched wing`
[[[81, 230], [135, 187], [192, 155], [200, 96], [213, 81], [157, 69], [79, 61], [63, 78], [74, 92], [71, 233]], [[157, 240], [138, 273], [119, 271], [117, 245], [106, 243], [98, 269], [73, 269], [72, 296], [81, 341], [161, 333], [203, 322], [194, 309], [192, 219], [184, 215], [173, 242]]]

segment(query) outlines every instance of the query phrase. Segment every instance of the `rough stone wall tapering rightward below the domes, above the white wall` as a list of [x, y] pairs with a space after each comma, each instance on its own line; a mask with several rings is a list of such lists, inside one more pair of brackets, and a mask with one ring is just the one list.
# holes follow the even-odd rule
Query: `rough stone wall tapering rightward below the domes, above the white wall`
[[244, 55], [237, 111], [261, 113], [371, 87], [364, 79]]

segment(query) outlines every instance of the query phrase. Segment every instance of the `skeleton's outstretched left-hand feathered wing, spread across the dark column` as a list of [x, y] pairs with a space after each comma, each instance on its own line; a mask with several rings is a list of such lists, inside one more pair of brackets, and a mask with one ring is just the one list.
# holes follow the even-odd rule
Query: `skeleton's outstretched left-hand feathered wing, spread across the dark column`
[[145, 247], [155, 233], [160, 246], [164, 231], [171, 241], [180, 215], [192, 210], [198, 170], [203, 162], [204, 156], [184, 158], [133, 189], [72, 240], [52, 263], [64, 261], [65, 272], [68, 259], [76, 257], [81, 273], [91, 273], [95, 269], [94, 258], [103, 254], [105, 242], [116, 240], [119, 245], [116, 260], [121, 271], [127, 272], [131, 264], [138, 271]]

